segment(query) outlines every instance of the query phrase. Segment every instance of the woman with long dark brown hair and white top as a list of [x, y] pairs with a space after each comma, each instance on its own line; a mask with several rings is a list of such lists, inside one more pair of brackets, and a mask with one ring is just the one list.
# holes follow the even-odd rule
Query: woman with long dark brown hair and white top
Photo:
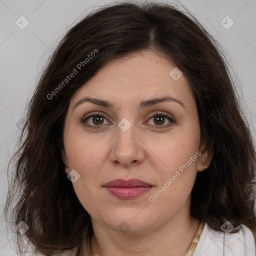
[[72, 27], [21, 138], [5, 205], [19, 195], [20, 251], [26, 237], [42, 255], [255, 254], [248, 125], [217, 43], [171, 5]]

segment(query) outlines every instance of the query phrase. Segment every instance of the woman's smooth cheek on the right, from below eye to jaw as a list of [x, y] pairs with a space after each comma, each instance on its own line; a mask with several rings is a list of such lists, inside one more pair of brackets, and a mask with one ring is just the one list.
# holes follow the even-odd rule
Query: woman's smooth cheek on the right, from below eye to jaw
[[160, 143], [161, 146], [158, 146], [158, 155], [164, 167], [155, 166], [159, 185], [151, 195], [154, 197], [152, 200], [157, 200], [157, 204], [168, 201], [178, 206], [188, 198], [194, 184], [200, 155], [200, 132], [197, 127], [193, 130], [188, 127], [183, 131], [180, 129], [180, 132], [176, 132], [165, 140], [164, 144]]

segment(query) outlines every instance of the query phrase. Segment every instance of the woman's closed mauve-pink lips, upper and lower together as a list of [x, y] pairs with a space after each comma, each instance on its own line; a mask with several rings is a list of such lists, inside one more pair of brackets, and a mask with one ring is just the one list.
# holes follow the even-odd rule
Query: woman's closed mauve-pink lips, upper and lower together
[[121, 199], [131, 199], [146, 193], [152, 185], [136, 178], [114, 179], [103, 185], [109, 193]]

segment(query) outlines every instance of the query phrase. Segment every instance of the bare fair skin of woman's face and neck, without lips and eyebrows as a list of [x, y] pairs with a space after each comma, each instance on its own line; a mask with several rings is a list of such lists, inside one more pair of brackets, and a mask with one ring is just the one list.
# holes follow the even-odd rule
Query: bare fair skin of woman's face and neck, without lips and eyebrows
[[[108, 62], [70, 100], [61, 153], [68, 165], [66, 173], [75, 169], [80, 175], [72, 184], [91, 216], [90, 255], [180, 256], [195, 235], [199, 221], [189, 214], [191, 189], [197, 171], [209, 165], [212, 153], [200, 144], [196, 104], [185, 75], [178, 80], [169, 75], [174, 67], [159, 52], [133, 52]], [[165, 101], [138, 108], [142, 100], [167, 95], [184, 107]], [[108, 100], [114, 108], [83, 102], [73, 109], [84, 96]], [[93, 111], [105, 117], [100, 124], [92, 117], [82, 122]], [[151, 116], [157, 111], [169, 114], [175, 123], [167, 118], [154, 120]], [[123, 118], [131, 124], [126, 131], [118, 126]], [[149, 196], [197, 151], [201, 155], [150, 202]], [[115, 178], [138, 178], [153, 187], [136, 198], [119, 199], [102, 187]], [[118, 228], [123, 221], [130, 228], [126, 233]]]

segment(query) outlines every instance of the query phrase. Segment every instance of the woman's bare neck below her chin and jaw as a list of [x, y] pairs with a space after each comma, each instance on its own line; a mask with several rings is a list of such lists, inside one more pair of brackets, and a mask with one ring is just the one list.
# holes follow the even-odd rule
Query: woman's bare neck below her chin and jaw
[[199, 220], [189, 215], [180, 218], [178, 214], [157, 229], [132, 234], [102, 228], [94, 223], [90, 255], [162, 256], [166, 252], [170, 256], [185, 255], [198, 225]]

